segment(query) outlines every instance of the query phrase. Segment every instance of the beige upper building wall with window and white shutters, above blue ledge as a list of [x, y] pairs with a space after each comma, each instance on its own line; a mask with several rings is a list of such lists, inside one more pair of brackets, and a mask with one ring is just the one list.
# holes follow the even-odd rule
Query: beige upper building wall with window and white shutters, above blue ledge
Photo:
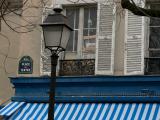
[[[27, 21], [34, 25], [33, 31], [25, 34], [15, 33], [3, 21], [1, 22], [1, 34], [7, 33], [8, 37], [0, 36], [2, 42], [0, 96], [3, 99], [1, 101], [13, 94], [8, 76], [34, 77], [48, 75], [50, 72], [50, 53], [44, 49], [43, 36], [38, 24], [56, 4], [62, 4], [63, 14], [68, 16], [70, 25], [74, 28], [66, 51], [59, 57], [57, 75], [159, 73], [159, 21], [157, 19], [135, 16], [122, 9], [118, 0], [51, 0], [46, 7], [37, 7], [42, 5], [39, 1], [29, 2], [29, 5], [31, 4], [32, 7], [23, 11], [21, 15], [27, 16]], [[150, 5], [143, 2], [136, 4], [157, 7], [157, 4]], [[22, 25], [26, 24], [26, 21], [14, 14], [7, 17]], [[31, 74], [18, 72], [19, 61], [23, 56], [30, 56], [33, 59]], [[6, 71], [9, 74], [6, 74]]]

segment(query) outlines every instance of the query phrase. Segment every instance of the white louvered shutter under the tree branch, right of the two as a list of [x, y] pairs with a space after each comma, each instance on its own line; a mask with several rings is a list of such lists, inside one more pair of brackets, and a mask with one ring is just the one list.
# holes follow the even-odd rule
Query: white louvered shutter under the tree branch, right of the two
[[144, 17], [126, 10], [124, 74], [144, 74]]

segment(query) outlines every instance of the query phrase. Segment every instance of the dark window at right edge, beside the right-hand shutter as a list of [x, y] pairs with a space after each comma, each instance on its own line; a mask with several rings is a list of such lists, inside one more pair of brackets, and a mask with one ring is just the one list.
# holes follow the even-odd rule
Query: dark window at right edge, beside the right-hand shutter
[[[160, 4], [150, 4], [150, 8], [159, 9]], [[160, 19], [149, 20], [148, 57], [145, 58], [145, 74], [160, 74]]]

